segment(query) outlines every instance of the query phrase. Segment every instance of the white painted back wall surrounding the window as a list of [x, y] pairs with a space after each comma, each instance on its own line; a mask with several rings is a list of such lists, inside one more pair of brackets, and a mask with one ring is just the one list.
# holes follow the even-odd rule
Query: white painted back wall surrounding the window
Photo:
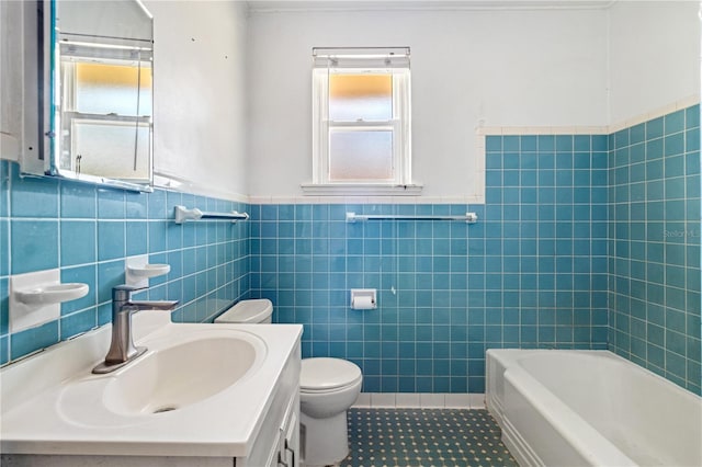
[[414, 175], [423, 197], [483, 190], [475, 127], [607, 125], [607, 11], [288, 11], [249, 19], [252, 196], [312, 178], [315, 46], [411, 47]]

